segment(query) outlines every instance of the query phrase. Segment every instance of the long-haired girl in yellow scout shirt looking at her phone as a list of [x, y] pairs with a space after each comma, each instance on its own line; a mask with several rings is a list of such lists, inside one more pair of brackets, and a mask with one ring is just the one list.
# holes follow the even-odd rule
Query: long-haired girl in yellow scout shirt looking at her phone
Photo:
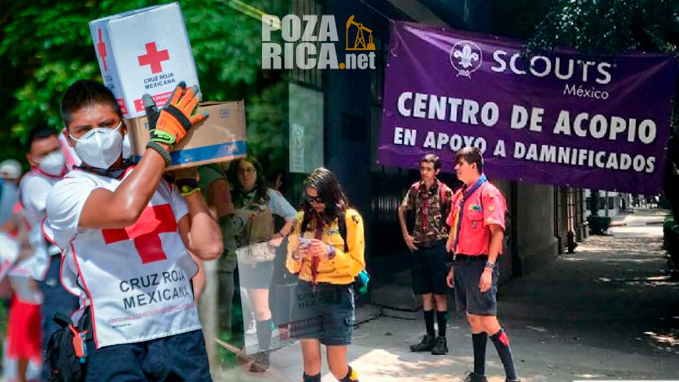
[[320, 344], [327, 347], [335, 378], [356, 382], [346, 352], [356, 311], [352, 284], [365, 268], [363, 218], [349, 208], [328, 169], [315, 169], [309, 175], [304, 196], [286, 261], [288, 270], [299, 274], [289, 335], [300, 338], [304, 382], [320, 382]]

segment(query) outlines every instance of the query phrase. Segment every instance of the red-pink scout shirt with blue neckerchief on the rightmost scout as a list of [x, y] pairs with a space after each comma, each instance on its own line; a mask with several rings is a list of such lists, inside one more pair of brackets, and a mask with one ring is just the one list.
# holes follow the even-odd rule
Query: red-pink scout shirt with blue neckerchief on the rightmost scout
[[[504, 230], [504, 213], [507, 211], [507, 204], [504, 196], [500, 194], [498, 188], [484, 181], [467, 198], [462, 206], [464, 187], [460, 188], [453, 196], [452, 210], [448, 215], [446, 223], [453, 230], [453, 238], [457, 240], [457, 248], [452, 250], [455, 254], [467, 256], [488, 255], [490, 246], [490, 224], [498, 224]], [[460, 211], [462, 212], [462, 223], [459, 224]], [[457, 238], [456, 238], [457, 237]], [[502, 247], [500, 247], [502, 254]]]

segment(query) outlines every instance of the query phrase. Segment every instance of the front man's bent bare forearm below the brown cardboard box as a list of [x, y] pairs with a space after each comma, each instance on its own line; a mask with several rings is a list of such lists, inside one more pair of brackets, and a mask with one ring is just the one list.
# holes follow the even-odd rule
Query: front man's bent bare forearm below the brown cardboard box
[[189, 250], [202, 260], [213, 260], [221, 254], [221, 230], [210, 214], [200, 192], [185, 196], [189, 207]]

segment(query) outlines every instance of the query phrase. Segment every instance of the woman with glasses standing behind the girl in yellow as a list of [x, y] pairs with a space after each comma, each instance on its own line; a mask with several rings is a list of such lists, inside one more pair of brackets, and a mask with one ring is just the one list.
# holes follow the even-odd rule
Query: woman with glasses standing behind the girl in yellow
[[[268, 186], [263, 169], [253, 156], [234, 163], [236, 178], [231, 198], [236, 208], [233, 227], [239, 248], [268, 243], [278, 247], [293, 230], [297, 211], [278, 191]], [[279, 215], [286, 224], [274, 232], [274, 217]], [[274, 248], [266, 249], [270, 254]], [[251, 252], [242, 251], [244, 254]], [[254, 256], [253, 256], [254, 257]], [[257, 343], [259, 353], [251, 365], [251, 372], [263, 372], [269, 368], [269, 352], [272, 334], [272, 315], [269, 308], [269, 288], [273, 274], [273, 258], [248, 259], [238, 257], [240, 286], [245, 288], [257, 320]]]

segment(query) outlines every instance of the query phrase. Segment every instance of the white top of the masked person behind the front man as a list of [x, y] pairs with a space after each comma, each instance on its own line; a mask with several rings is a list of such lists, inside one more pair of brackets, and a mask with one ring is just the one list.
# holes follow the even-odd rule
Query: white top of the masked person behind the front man
[[40, 222], [46, 215], [47, 196], [56, 182], [61, 179], [63, 178], [60, 176], [48, 175], [34, 168], [22, 177], [19, 184], [20, 201], [23, 206], [20, 214], [29, 224], [29, 243], [34, 253], [29, 267], [33, 279], [39, 281], [45, 279], [50, 264], [50, 255], [59, 253], [59, 251], [54, 251], [54, 248], [50, 248], [51, 246], [43, 238]]

